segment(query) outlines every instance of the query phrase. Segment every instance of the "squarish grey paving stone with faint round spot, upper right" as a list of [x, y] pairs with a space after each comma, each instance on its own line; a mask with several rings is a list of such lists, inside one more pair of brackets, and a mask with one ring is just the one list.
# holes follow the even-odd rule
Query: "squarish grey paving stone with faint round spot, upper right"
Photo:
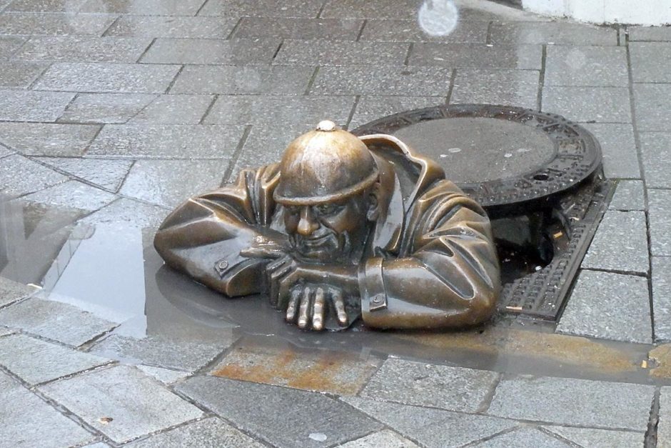
[[545, 86], [626, 87], [627, 49], [623, 46], [548, 46]]

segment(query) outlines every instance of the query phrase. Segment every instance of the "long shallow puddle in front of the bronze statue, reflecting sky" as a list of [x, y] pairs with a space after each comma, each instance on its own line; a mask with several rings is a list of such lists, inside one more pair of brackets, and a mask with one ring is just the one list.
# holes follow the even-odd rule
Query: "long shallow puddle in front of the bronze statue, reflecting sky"
[[[400, 356], [498, 372], [670, 383], [641, 362], [651, 347], [597, 342], [498, 320], [467, 332], [303, 332], [262, 296], [226, 299], [163, 265], [155, 229], [78, 223], [81, 211], [0, 201], [0, 276], [39, 284], [46, 299], [120, 324], [113, 334], [187, 342], [230, 338], [258, 347]], [[529, 327], [532, 327], [529, 329]]]

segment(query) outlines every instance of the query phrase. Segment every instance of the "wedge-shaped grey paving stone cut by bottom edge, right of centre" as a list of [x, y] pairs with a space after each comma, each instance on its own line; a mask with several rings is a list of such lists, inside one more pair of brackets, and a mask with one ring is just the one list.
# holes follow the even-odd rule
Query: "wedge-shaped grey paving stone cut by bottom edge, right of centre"
[[462, 414], [372, 399], [343, 397], [344, 402], [416, 440], [425, 447], [462, 447], [490, 437], [518, 423], [512, 420]]

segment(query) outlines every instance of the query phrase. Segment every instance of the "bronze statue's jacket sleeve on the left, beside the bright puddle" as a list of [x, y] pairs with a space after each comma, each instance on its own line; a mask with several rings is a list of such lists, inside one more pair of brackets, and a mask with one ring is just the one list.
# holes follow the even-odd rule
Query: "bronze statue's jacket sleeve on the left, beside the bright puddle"
[[166, 263], [229, 297], [263, 287], [266, 260], [243, 257], [241, 249], [283, 236], [268, 225], [276, 165], [244, 170], [235, 183], [178, 206], [163, 221], [154, 247]]

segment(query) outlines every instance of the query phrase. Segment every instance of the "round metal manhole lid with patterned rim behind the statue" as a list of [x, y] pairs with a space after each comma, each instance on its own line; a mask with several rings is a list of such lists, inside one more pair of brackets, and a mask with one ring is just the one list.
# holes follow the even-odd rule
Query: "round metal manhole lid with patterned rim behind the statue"
[[601, 166], [589, 131], [562, 116], [490, 104], [434, 106], [370, 121], [353, 134], [392, 134], [443, 166], [483, 206], [550, 199]]

